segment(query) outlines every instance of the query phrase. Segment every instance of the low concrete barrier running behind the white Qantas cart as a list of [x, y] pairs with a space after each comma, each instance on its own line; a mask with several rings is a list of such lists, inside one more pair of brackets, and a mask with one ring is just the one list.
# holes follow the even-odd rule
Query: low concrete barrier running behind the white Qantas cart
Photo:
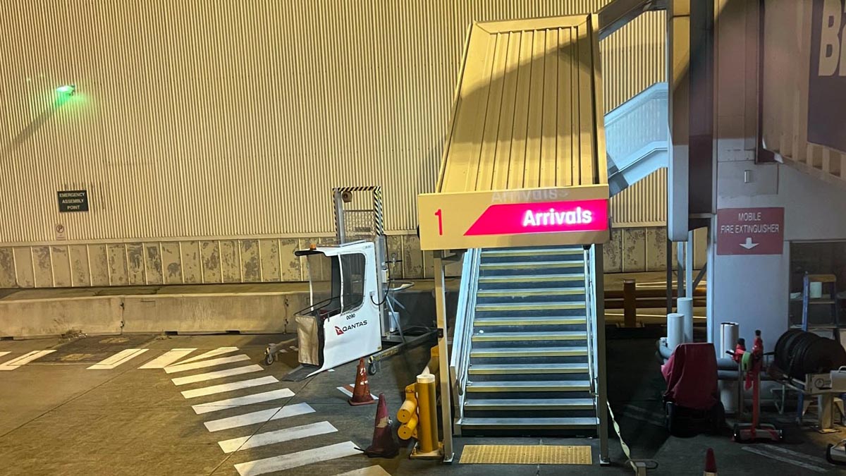
[[[431, 326], [431, 291], [398, 296], [404, 327]], [[456, 293], [448, 295], [452, 313]], [[127, 295], [0, 301], [0, 338], [35, 339], [71, 330], [88, 335], [277, 334], [295, 332], [305, 292]]]

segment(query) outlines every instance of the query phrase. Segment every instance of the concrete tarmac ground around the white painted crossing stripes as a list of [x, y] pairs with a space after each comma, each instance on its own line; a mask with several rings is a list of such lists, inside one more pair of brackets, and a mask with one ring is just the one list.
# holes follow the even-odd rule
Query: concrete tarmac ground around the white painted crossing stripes
[[[293, 335], [195, 335], [154, 336], [132, 335], [113, 337], [81, 337], [69, 340], [3, 340], [0, 341], [0, 369], [3, 363], [29, 351], [55, 350], [10, 370], [0, 370], [0, 474], [62, 474], [88, 476], [115, 475], [233, 475], [235, 465], [262, 458], [290, 455], [298, 451], [325, 448], [352, 441], [357, 446], [371, 442], [375, 406], [350, 407], [346, 396], [336, 387], [353, 384], [354, 364], [348, 364], [316, 375], [302, 382], [282, 381], [295, 365], [296, 344]], [[261, 363], [268, 342], [291, 340], [288, 352], [280, 362]], [[161, 368], [140, 368], [166, 351], [195, 348], [187, 357], [220, 347], [236, 346], [219, 356], [195, 361], [224, 359], [217, 365], [191, 368], [168, 374]], [[721, 474], [835, 474], [824, 460], [825, 443], [844, 434], [816, 434], [799, 429], [783, 418], [779, 423], [786, 440], [778, 446], [733, 443], [728, 433], [721, 436], [699, 435], [681, 439], [670, 437], [662, 426], [661, 393], [664, 388], [654, 357], [654, 336], [641, 339], [608, 340], [609, 398], [623, 429], [624, 439], [632, 447], [633, 457], [654, 459], [658, 468], [650, 474], [700, 474], [706, 448], [717, 453]], [[88, 369], [92, 364], [126, 349], [149, 349], [112, 369]], [[398, 409], [402, 389], [420, 372], [428, 358], [426, 348], [418, 348], [392, 357], [370, 378], [371, 392], [383, 392], [393, 415]], [[238, 357], [238, 356], [246, 357]], [[228, 357], [234, 357], [228, 362]], [[242, 360], [237, 360], [242, 359]], [[231, 368], [250, 367], [247, 374], [229, 375], [193, 383], [180, 379]], [[204, 365], [204, 364], [201, 364]], [[208, 376], [206, 376], [208, 377]], [[203, 377], [197, 377], [201, 379]], [[186, 390], [211, 385], [226, 385], [244, 379], [270, 380], [261, 386], [244, 389], [221, 388], [216, 394], [183, 396]], [[280, 381], [275, 382], [274, 379]], [[294, 396], [253, 403], [244, 407], [213, 408], [198, 414], [192, 406], [240, 396], [289, 389]], [[314, 412], [288, 418], [261, 418], [256, 423], [210, 431], [204, 423], [231, 418], [244, 413], [267, 411], [279, 407], [294, 409], [307, 404]], [[770, 421], [777, 415], [767, 415]], [[294, 426], [328, 422], [337, 431], [315, 434], [225, 453], [218, 442], [249, 437]], [[255, 438], [255, 437], [254, 437]], [[246, 440], [250, 446], [250, 439]], [[254, 443], [257, 438], [252, 440]], [[624, 468], [624, 457], [618, 440], [611, 441], [614, 464], [601, 468], [596, 464], [597, 440], [563, 440], [554, 438], [457, 438], [456, 456], [452, 465], [439, 462], [409, 460], [409, 447], [392, 459], [369, 459], [361, 455], [327, 459], [328, 450], [318, 450], [316, 462], [272, 474], [335, 475], [374, 465], [394, 476], [411, 474], [630, 474]], [[237, 447], [243, 441], [235, 446]], [[593, 466], [513, 466], [461, 464], [461, 451], [466, 444], [518, 445], [590, 445], [594, 448]], [[241, 467], [242, 469], [244, 467]], [[268, 473], [271, 474], [271, 473]], [[376, 474], [376, 473], [373, 473]], [[383, 473], [382, 473], [383, 474]]]

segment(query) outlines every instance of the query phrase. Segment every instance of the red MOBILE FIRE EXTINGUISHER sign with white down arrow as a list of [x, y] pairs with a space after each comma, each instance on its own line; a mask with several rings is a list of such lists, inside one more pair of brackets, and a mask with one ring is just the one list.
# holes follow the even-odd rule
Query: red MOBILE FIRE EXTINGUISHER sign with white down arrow
[[780, 255], [784, 250], [784, 208], [717, 210], [718, 255]]

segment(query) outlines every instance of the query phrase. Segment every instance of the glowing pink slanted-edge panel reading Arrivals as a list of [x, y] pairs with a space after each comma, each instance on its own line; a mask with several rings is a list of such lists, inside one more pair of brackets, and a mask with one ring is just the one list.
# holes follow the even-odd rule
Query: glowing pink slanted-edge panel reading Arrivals
[[608, 201], [501, 203], [491, 205], [465, 236], [520, 235], [608, 229]]

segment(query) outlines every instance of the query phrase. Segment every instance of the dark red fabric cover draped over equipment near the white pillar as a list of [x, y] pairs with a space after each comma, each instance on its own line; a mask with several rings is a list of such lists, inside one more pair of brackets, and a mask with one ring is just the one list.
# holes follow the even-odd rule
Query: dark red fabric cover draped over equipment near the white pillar
[[679, 344], [661, 366], [661, 373], [667, 381], [665, 401], [695, 410], [717, 404], [717, 354], [713, 344]]

